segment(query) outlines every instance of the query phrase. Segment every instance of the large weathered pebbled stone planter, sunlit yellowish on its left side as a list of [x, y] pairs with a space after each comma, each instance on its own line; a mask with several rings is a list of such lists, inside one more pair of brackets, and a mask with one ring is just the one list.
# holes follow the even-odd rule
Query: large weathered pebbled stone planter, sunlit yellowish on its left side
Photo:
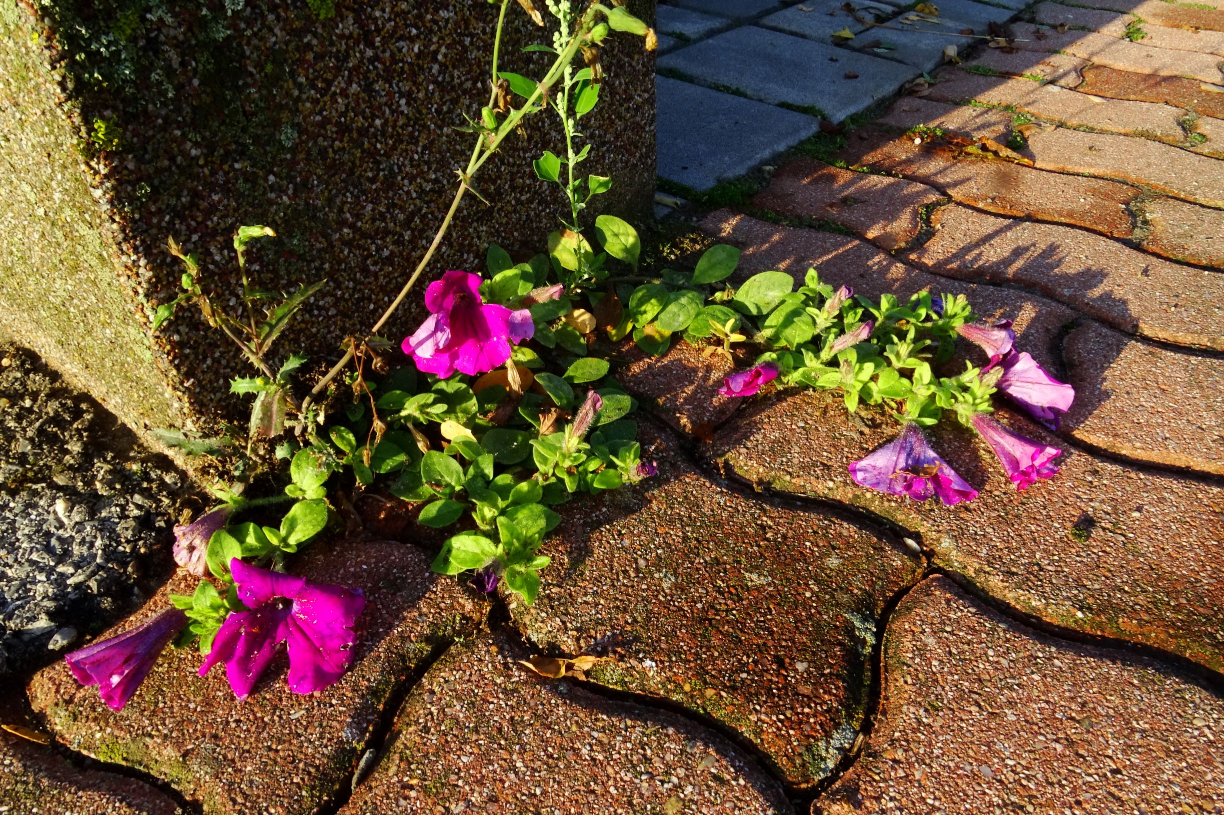
[[[233, 409], [225, 381], [250, 367], [195, 310], [151, 335], [181, 272], [165, 242], [197, 252], [202, 284], [225, 302], [234, 229], [268, 224], [279, 237], [251, 252], [258, 285], [329, 280], [283, 351], [322, 365], [345, 334], [368, 329], [466, 163], [471, 137], [452, 128], [487, 99], [496, 6], [364, 0], [317, 18], [301, 0], [146, 11], [54, 0], [38, 20], [21, 1], [0, 0], [0, 326], [129, 423], [207, 423]], [[654, 16], [652, 0], [630, 9]], [[550, 55], [520, 45], [545, 38], [512, 5], [499, 67], [537, 73]], [[602, 207], [645, 212], [654, 56], [619, 34], [602, 55], [584, 170], [616, 179]], [[104, 144], [91, 141], [99, 127]], [[530, 159], [558, 137], [548, 114], [526, 135], [477, 180], [496, 209], [469, 196], [428, 275], [479, 268], [490, 241], [541, 248], [562, 201]], [[405, 333], [408, 312], [388, 335]]]

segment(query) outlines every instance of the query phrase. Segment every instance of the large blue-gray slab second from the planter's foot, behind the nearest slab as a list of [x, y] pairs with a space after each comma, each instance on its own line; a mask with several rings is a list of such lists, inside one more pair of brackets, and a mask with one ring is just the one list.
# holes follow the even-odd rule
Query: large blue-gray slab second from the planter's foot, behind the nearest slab
[[858, 113], [918, 75], [901, 62], [755, 26], [666, 54], [659, 67], [705, 84], [737, 88], [761, 102], [819, 109], [832, 121]]

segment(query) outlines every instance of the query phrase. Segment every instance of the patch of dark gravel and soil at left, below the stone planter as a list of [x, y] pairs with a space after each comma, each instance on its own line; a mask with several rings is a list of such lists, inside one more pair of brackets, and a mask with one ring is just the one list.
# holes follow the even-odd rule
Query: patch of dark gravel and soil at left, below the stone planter
[[4, 677], [55, 658], [76, 631], [100, 631], [169, 574], [182, 480], [31, 352], [2, 345], [0, 356]]

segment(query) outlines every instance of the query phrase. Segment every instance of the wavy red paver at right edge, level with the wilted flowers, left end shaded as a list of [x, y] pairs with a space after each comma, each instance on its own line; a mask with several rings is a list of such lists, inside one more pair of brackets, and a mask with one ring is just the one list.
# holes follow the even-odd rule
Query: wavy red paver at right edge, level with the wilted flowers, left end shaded
[[1066, 432], [1127, 458], [1224, 475], [1224, 360], [1136, 343], [1095, 323], [1067, 334], [1062, 355], [1076, 388]]

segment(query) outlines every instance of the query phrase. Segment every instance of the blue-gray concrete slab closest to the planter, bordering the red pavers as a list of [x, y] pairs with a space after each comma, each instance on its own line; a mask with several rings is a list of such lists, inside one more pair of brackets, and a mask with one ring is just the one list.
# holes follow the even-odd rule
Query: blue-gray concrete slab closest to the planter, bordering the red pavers
[[734, 179], [820, 128], [793, 110], [659, 77], [659, 175], [694, 190]]

